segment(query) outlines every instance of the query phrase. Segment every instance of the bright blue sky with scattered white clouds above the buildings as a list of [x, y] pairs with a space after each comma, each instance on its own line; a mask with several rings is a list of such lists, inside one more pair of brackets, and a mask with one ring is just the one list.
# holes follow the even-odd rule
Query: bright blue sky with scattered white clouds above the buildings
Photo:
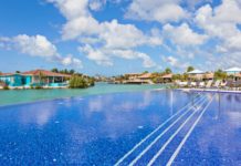
[[0, 71], [241, 66], [241, 0], [1, 0]]

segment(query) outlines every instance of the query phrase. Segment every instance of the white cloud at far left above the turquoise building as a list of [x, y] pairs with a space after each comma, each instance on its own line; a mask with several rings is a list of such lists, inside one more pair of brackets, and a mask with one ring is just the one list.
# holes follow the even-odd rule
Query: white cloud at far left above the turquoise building
[[72, 55], [61, 56], [56, 46], [51, 43], [44, 35], [19, 34], [13, 38], [1, 37], [0, 45], [6, 50], [17, 50], [31, 56], [44, 58], [48, 61], [56, 61], [63, 65], [73, 65], [82, 68], [82, 61]]

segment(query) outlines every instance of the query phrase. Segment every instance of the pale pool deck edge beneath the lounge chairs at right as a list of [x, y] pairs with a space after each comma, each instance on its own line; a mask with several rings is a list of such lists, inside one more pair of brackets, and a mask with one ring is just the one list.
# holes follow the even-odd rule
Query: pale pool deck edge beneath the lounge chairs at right
[[184, 92], [212, 92], [212, 93], [235, 93], [241, 94], [241, 91], [230, 91], [220, 89], [177, 89]]

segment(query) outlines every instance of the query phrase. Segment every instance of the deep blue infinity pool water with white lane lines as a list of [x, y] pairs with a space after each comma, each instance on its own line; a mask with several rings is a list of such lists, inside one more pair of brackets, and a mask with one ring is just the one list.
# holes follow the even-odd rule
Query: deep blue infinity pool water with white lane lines
[[0, 107], [0, 165], [241, 165], [241, 94], [145, 91]]

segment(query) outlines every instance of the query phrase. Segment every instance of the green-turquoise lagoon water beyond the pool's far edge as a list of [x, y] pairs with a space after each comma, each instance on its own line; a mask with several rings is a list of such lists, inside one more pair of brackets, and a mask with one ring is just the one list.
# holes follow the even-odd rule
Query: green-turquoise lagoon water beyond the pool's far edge
[[94, 87], [88, 89], [57, 89], [57, 90], [12, 90], [0, 91], [0, 105], [9, 105], [15, 103], [29, 103], [34, 101], [52, 100], [60, 97], [105, 94], [113, 92], [133, 92], [153, 89], [163, 89], [166, 85], [122, 85], [96, 83]]

